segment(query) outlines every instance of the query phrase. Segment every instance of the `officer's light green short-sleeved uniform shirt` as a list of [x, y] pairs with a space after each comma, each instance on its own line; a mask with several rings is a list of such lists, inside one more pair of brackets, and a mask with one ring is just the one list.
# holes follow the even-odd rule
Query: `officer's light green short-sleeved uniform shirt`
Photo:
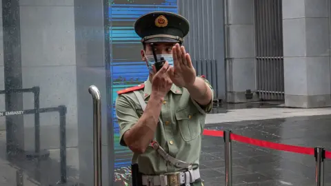
[[[208, 83], [214, 96], [212, 86], [206, 79], [204, 80]], [[144, 84], [145, 87], [137, 91], [147, 104], [152, 92], [152, 83], [148, 79]], [[119, 94], [115, 107], [121, 134], [120, 143], [126, 146], [123, 134], [137, 123], [143, 110], [133, 92]], [[161, 108], [161, 125], [157, 126], [155, 132], [157, 142], [170, 156], [193, 163], [193, 168], [198, 167], [205, 114], [210, 110], [212, 110], [212, 102], [202, 108], [190, 98], [188, 90], [172, 85], [170, 92], [164, 97]], [[134, 154], [132, 163], [138, 163], [139, 171], [146, 175], [182, 171], [165, 161], [152, 147], [148, 147], [143, 154]]]

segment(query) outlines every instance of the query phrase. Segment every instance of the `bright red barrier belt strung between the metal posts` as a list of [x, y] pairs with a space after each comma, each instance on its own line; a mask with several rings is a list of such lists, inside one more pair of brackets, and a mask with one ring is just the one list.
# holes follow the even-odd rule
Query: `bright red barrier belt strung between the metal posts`
[[[223, 131], [219, 130], [203, 130], [205, 136], [219, 136], [223, 137]], [[314, 148], [312, 147], [299, 147], [294, 145], [285, 145], [281, 143], [274, 143], [270, 141], [263, 141], [254, 138], [248, 138], [238, 134], [231, 134], [231, 140], [238, 141], [241, 143], [248, 143], [250, 145], [256, 145], [259, 147], [267, 147], [270, 149], [278, 149], [287, 152], [294, 152], [299, 154], [308, 154], [314, 156]], [[331, 152], [325, 152], [325, 158], [331, 158]]]

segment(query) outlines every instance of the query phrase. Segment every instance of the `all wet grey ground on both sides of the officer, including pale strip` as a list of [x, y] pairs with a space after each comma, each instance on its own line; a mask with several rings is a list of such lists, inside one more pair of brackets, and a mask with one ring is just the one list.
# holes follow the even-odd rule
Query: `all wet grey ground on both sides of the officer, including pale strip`
[[[252, 103], [255, 106], [259, 103]], [[274, 105], [279, 105], [274, 104]], [[238, 108], [238, 107], [237, 107]], [[264, 105], [261, 108], [241, 107], [221, 114], [208, 114], [205, 129], [230, 129], [235, 134], [265, 141], [300, 145], [323, 146], [331, 150], [331, 108], [290, 109]], [[219, 108], [221, 109], [221, 108]], [[293, 117], [296, 116], [296, 117]], [[221, 122], [221, 123], [217, 123]], [[1, 132], [0, 132], [1, 134]], [[201, 178], [205, 186], [224, 185], [223, 138], [203, 136]], [[0, 135], [0, 148], [6, 149], [6, 136]], [[69, 149], [67, 149], [69, 157]], [[56, 185], [59, 181], [59, 158], [52, 153], [41, 164], [23, 159], [9, 160], [0, 153], [0, 185], [16, 185], [18, 170], [24, 171], [24, 185]], [[125, 156], [131, 156], [128, 153]], [[263, 147], [232, 142], [233, 185], [314, 185], [314, 156], [281, 152]], [[39, 174], [39, 173], [43, 174]], [[79, 182], [79, 170], [67, 167], [68, 180]], [[119, 182], [130, 180], [129, 167], [117, 169]], [[331, 186], [331, 159], [325, 159], [325, 185]], [[71, 184], [68, 184], [71, 185]]]

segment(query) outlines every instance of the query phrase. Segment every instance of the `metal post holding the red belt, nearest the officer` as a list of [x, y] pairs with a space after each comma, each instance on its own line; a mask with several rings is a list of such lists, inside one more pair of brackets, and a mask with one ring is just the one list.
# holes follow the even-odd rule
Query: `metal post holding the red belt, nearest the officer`
[[224, 130], [225, 186], [232, 186], [232, 144], [231, 130]]

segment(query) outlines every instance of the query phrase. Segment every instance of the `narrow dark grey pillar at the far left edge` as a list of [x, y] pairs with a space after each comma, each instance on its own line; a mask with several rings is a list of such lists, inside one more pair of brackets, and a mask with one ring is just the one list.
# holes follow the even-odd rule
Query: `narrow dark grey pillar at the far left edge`
[[[3, 75], [6, 90], [22, 88], [19, 1], [3, 1]], [[6, 94], [6, 111], [22, 110], [22, 94]], [[24, 148], [23, 116], [6, 116], [7, 153]]]

